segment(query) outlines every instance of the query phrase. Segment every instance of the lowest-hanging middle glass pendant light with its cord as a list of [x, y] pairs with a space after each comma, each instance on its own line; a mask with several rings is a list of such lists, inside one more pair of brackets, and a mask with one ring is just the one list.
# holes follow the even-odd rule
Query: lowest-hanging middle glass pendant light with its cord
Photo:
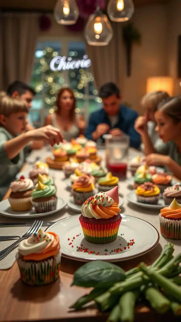
[[91, 46], [106, 46], [113, 36], [108, 16], [100, 10], [99, 0], [94, 14], [89, 16], [85, 27], [85, 38]]

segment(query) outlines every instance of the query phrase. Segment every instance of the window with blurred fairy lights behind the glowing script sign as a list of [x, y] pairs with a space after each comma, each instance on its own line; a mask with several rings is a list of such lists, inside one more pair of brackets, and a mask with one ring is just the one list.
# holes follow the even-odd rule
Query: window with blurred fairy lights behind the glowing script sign
[[30, 117], [35, 125], [43, 125], [44, 118], [56, 107], [56, 97], [62, 87], [71, 87], [77, 100], [77, 113], [85, 118], [100, 107], [101, 99], [94, 87], [94, 78], [89, 68], [52, 71], [50, 62], [56, 56], [82, 60], [85, 43], [78, 41], [40, 41], [35, 51], [31, 85], [37, 95], [33, 100]]

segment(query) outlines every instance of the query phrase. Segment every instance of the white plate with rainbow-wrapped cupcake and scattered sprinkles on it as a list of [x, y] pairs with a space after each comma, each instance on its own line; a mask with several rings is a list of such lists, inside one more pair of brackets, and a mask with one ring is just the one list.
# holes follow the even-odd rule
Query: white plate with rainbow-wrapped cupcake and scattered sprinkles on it
[[150, 223], [120, 214], [118, 186], [89, 197], [80, 214], [54, 223], [48, 231], [59, 236], [64, 257], [81, 261], [128, 260], [159, 242], [159, 233]]

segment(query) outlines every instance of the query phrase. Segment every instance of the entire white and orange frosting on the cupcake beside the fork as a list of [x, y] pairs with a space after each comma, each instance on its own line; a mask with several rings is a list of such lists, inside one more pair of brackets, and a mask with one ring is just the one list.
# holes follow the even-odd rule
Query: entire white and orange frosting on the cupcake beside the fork
[[44, 260], [56, 256], [60, 250], [59, 237], [54, 232], [41, 229], [19, 243], [18, 251], [24, 260]]

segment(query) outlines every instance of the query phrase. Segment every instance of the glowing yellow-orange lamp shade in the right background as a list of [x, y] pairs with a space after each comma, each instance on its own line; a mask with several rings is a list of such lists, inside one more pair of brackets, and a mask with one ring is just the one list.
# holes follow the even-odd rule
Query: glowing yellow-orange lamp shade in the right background
[[172, 77], [158, 76], [147, 79], [147, 93], [162, 90], [173, 96], [174, 80]]

